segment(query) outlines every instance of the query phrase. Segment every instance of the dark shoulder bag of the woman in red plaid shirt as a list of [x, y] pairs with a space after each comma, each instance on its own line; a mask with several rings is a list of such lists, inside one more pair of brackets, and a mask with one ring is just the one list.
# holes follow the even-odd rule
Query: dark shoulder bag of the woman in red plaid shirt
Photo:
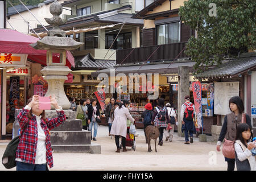
[[[25, 126], [25, 129], [27, 125], [28, 125], [28, 122]], [[23, 133], [24, 133], [24, 130], [23, 130]], [[19, 140], [20, 140], [19, 137], [21, 137], [22, 134], [12, 139], [11, 142], [7, 145], [5, 152], [3, 153], [2, 164], [3, 166], [5, 166], [6, 169], [11, 169], [16, 166], [16, 161], [15, 161], [16, 151], [19, 145]]]

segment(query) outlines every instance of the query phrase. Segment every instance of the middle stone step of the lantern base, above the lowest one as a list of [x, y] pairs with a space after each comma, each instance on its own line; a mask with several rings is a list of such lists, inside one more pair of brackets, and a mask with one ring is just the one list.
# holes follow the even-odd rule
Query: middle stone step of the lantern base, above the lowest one
[[56, 144], [90, 144], [90, 131], [51, 131], [51, 143]]

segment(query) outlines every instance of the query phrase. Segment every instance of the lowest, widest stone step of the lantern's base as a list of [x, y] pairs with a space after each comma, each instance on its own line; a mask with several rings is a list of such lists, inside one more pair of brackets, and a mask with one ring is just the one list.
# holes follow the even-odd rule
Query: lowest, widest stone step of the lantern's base
[[101, 146], [92, 144], [52, 144], [54, 152], [86, 152], [90, 154], [101, 154]]

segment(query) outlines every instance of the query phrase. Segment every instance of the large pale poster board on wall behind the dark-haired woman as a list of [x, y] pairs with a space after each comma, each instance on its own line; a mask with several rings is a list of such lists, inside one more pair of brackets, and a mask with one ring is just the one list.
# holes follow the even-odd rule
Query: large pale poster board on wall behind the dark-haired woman
[[226, 115], [231, 113], [229, 100], [239, 96], [239, 82], [214, 82], [214, 114]]

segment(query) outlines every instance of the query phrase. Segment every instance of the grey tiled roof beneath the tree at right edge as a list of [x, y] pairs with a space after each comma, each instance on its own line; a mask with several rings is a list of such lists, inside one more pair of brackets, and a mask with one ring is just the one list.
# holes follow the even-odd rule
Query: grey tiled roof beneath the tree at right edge
[[242, 72], [247, 71], [256, 67], [256, 54], [249, 53], [246, 54], [248, 57], [241, 56], [237, 59], [224, 60], [224, 64], [221, 64], [219, 67], [215, 67], [200, 73], [197, 75], [197, 78], [206, 78], [206, 77], [230, 77], [236, 76]]

